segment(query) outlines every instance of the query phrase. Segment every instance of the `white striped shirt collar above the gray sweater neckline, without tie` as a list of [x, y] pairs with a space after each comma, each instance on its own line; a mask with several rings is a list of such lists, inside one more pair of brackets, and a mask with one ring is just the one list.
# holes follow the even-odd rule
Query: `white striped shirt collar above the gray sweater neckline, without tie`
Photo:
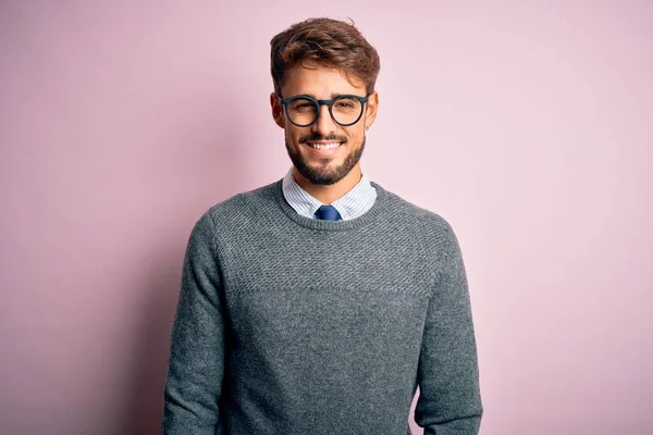
[[[326, 204], [322, 204], [322, 202], [310, 196], [297, 184], [293, 176], [294, 169], [295, 166], [291, 166], [283, 178], [283, 196], [297, 213], [305, 217], [316, 219], [316, 211], [318, 211], [321, 206]], [[360, 172], [362, 174], [360, 182], [358, 182], [352, 190], [346, 192], [344, 197], [338, 198], [331, 203], [331, 206], [337, 210], [343, 221], [361, 216], [372, 208], [377, 200], [377, 189], [370, 184], [362, 167], [360, 169]]]

